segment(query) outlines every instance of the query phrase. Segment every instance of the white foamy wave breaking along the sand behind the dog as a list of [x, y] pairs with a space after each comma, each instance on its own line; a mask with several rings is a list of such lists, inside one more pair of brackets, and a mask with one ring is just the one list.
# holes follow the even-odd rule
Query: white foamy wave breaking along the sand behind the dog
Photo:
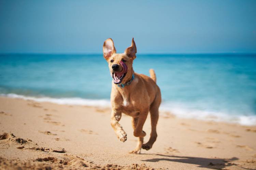
[[[93, 100], [93, 99], [82, 99], [82, 98], [51, 98], [51, 97], [31, 97], [17, 94], [0, 94], [3, 97], [9, 98], [20, 98], [25, 100], [34, 100], [37, 102], [51, 102], [56, 104], [68, 104], [68, 105], [86, 105], [86, 106], [97, 106], [97, 107], [110, 107], [110, 100]], [[221, 112], [210, 112], [202, 111], [199, 109], [191, 109], [185, 105], [178, 103], [164, 102], [161, 104], [160, 114], [170, 112], [171, 114], [190, 119], [199, 119], [207, 121], [217, 122], [229, 122], [239, 123], [241, 125], [256, 125], [256, 115], [230, 115], [228, 113]]]

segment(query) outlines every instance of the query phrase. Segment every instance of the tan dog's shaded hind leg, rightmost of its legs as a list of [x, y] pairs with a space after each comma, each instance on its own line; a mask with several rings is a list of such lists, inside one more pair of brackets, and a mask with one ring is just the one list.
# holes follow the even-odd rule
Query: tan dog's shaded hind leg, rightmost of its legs
[[155, 100], [150, 107], [150, 118], [151, 118], [151, 134], [150, 139], [147, 143], [142, 145], [142, 149], [150, 150], [156, 141], [157, 133], [156, 133], [156, 125], [159, 117], [158, 107], [160, 102]]

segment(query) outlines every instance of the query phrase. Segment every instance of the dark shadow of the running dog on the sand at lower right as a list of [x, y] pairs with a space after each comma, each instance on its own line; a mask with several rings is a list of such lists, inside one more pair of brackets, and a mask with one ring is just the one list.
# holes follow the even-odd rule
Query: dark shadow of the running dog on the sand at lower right
[[170, 161], [170, 162], [180, 162], [185, 164], [195, 164], [195, 165], [198, 165], [198, 167], [200, 168], [223, 169], [225, 167], [236, 165], [231, 161], [238, 160], [237, 157], [232, 157], [230, 159], [222, 159], [222, 158], [201, 158], [201, 157], [189, 157], [189, 156], [162, 155], [162, 154], [150, 154], [150, 155], [157, 155], [163, 158], [145, 159], [141, 161], [159, 162], [164, 160], [164, 161]]

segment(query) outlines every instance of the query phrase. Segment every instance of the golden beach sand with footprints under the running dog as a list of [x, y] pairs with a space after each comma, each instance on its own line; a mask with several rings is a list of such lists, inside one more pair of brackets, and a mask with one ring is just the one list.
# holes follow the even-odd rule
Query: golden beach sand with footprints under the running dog
[[[149, 151], [136, 147], [131, 118], [120, 124], [110, 108], [0, 98], [0, 169], [256, 169], [256, 127], [181, 119], [160, 113], [158, 138]], [[150, 134], [150, 120], [143, 130]]]

